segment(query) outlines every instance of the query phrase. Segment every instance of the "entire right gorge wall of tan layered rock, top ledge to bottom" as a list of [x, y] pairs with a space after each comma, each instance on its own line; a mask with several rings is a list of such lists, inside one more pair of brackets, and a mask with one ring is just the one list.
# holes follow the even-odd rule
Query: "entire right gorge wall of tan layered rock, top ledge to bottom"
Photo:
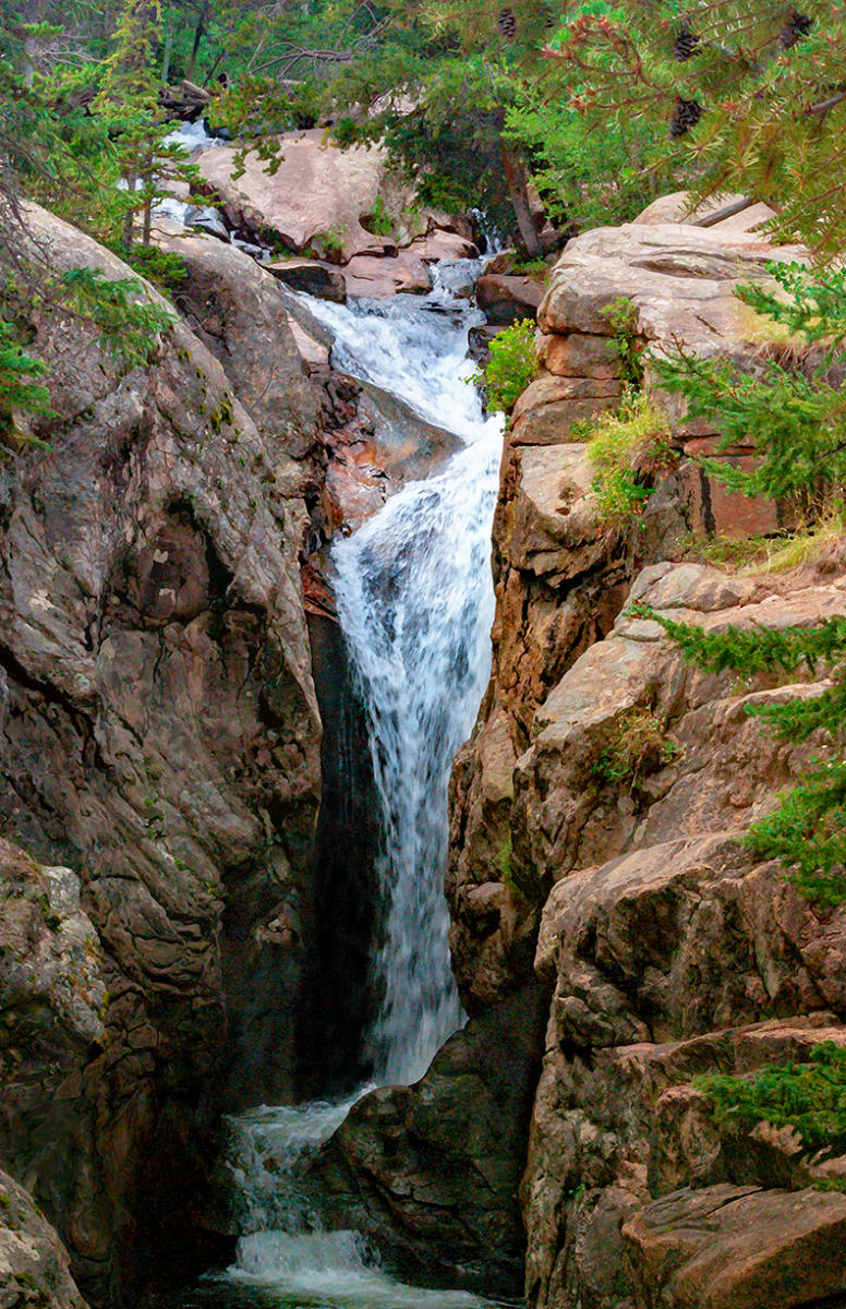
[[[696, 457], [717, 429], [686, 420], [649, 365], [676, 456], [632, 526], [598, 522], [570, 436], [620, 395], [603, 310], [622, 296], [643, 346], [684, 339], [751, 368], [778, 350], [732, 289], [802, 251], [667, 216], [679, 206], [658, 202], [571, 241], [540, 304], [544, 367], [502, 461], [493, 674], [452, 776], [454, 966], [471, 1014], [532, 977], [548, 997], [520, 1187], [531, 1306], [846, 1304], [846, 1198], [813, 1189], [843, 1161], [821, 1169], [791, 1134], [739, 1140], [692, 1085], [846, 1043], [843, 911], [809, 906], [736, 840], [826, 747], [778, 742], [745, 709], [825, 681], [705, 675], [625, 609], [812, 624], [843, 613], [846, 555], [833, 545], [792, 575], [697, 562], [697, 541], [773, 531], [782, 511], [707, 478]], [[609, 775], [603, 751], [643, 721], [658, 745]]]

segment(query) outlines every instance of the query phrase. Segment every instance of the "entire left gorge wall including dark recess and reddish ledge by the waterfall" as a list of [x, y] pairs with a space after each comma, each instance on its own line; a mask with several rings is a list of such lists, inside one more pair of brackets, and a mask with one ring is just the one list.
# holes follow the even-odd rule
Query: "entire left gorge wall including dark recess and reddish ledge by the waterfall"
[[[133, 276], [27, 224], [56, 271]], [[95, 1305], [226, 1255], [222, 1110], [356, 1076], [374, 806], [327, 547], [454, 448], [330, 365], [280, 270], [154, 236], [180, 321], [132, 367], [33, 310], [54, 414], [0, 467], [0, 1157]], [[421, 288], [473, 251], [421, 240]]]

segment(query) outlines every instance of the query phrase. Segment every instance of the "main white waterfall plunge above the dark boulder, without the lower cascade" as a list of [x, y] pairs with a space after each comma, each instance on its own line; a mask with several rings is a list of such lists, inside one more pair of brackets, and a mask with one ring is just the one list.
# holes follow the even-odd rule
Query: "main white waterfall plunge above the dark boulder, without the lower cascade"
[[[468, 270], [458, 276], [465, 281]], [[335, 332], [340, 367], [390, 387], [463, 441], [439, 473], [404, 487], [332, 551], [384, 829], [379, 876], [390, 910], [375, 969], [374, 1076], [412, 1083], [462, 1017], [443, 898], [447, 783], [490, 666], [502, 423], [482, 418], [468, 385], [467, 330], [481, 315], [442, 279], [422, 301], [315, 312]]]

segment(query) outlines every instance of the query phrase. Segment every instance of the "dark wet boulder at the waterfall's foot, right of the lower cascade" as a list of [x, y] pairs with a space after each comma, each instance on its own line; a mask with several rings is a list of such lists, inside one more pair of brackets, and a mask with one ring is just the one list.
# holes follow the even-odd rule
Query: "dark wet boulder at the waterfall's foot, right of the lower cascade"
[[365, 1232], [405, 1267], [519, 1291], [518, 1186], [543, 1013], [530, 987], [471, 1020], [415, 1086], [360, 1101], [314, 1168], [324, 1220]]

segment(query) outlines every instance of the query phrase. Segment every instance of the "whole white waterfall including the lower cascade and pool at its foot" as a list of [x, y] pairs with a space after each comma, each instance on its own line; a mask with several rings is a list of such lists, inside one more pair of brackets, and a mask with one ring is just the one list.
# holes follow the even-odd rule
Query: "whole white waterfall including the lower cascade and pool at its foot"
[[[443, 897], [447, 784], [489, 674], [490, 531], [502, 424], [485, 420], [468, 329], [482, 321], [451, 287], [477, 267], [441, 266], [425, 297], [309, 300], [333, 336], [333, 363], [400, 397], [459, 449], [408, 483], [332, 559], [341, 630], [365, 707], [381, 806], [378, 876], [387, 920], [371, 984], [375, 1084], [411, 1084], [462, 1021]], [[230, 1121], [229, 1168], [242, 1232], [237, 1262], [186, 1305], [472, 1309], [463, 1291], [399, 1283], [354, 1232], [320, 1229], [298, 1166], [340, 1126], [347, 1103], [262, 1107]], [[225, 1287], [225, 1295], [221, 1291]]]

